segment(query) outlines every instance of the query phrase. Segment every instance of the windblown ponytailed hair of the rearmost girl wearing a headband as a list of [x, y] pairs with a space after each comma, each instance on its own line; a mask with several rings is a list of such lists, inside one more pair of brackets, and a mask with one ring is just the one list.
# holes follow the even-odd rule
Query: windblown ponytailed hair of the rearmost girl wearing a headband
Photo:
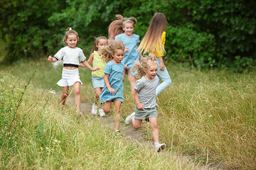
[[124, 23], [133, 23], [134, 26], [135, 26], [135, 23], [137, 23], [137, 20], [134, 17], [124, 18], [123, 16], [121, 16], [119, 14], [117, 14], [115, 16], [118, 19], [115, 21], [112, 21], [112, 23], [110, 23], [110, 26], [108, 28], [108, 34], [109, 34], [110, 40], [114, 40], [114, 37], [116, 35], [124, 33], [124, 30], [122, 29], [124, 26]]

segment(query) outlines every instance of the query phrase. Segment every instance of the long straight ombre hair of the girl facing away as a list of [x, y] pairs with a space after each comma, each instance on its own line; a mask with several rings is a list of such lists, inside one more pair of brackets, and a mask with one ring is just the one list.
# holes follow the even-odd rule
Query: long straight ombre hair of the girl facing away
[[139, 52], [159, 52], [159, 47], [161, 51], [164, 51], [164, 45], [161, 42], [161, 35], [166, 29], [167, 21], [163, 13], [156, 13], [149, 25], [146, 35], [142, 39], [138, 50]]

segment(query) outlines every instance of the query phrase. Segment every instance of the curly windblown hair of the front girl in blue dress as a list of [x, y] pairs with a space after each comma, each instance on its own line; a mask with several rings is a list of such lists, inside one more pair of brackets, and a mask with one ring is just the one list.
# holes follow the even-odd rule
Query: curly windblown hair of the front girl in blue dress
[[114, 54], [115, 50], [123, 50], [124, 51], [125, 46], [124, 43], [120, 40], [112, 40], [110, 44], [106, 45], [105, 47], [101, 48], [98, 52], [99, 55], [102, 56], [102, 60], [105, 62], [109, 62], [112, 60], [112, 55]]

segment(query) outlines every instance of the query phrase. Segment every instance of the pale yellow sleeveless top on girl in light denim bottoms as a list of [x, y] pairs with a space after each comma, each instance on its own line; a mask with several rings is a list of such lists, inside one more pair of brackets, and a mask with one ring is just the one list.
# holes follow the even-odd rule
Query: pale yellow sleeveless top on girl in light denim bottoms
[[105, 66], [106, 66], [106, 62], [104, 62], [102, 60], [102, 57], [100, 57], [100, 55], [98, 55], [97, 51], [94, 51], [93, 52], [94, 54], [94, 57], [93, 57], [93, 60], [92, 60], [92, 67], [95, 68], [95, 67], [100, 67], [99, 70], [96, 70], [95, 72], [92, 72], [92, 76], [94, 77], [104, 77], [104, 69], [105, 69]]

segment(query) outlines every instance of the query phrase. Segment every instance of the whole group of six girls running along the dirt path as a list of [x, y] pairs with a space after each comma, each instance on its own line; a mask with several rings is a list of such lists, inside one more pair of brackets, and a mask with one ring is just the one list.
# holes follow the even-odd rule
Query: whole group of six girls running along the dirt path
[[[148, 119], [154, 137], [154, 147], [159, 152], [166, 145], [159, 143], [156, 96], [171, 84], [163, 61], [166, 17], [163, 13], [156, 13], [139, 44], [139, 35], [133, 33], [137, 20], [134, 17], [116, 16], [118, 19], [112, 21], [109, 26], [109, 40], [105, 37], [96, 38], [89, 60], [86, 61], [82, 50], [76, 47], [79, 41], [78, 33], [72, 28], [66, 30], [63, 38], [67, 46], [61, 48], [54, 57], [48, 57], [49, 62], [63, 59], [62, 79], [57, 83], [63, 87], [61, 104], [65, 104], [69, 86], [73, 86], [76, 112], [82, 114], [82, 81], [78, 67], [87, 67], [92, 71], [92, 86], [95, 89], [92, 114], [96, 115], [98, 109], [100, 116], [105, 116], [105, 113], [110, 112], [114, 102], [114, 131], [119, 135], [120, 108], [124, 101], [123, 81], [125, 74], [128, 74], [136, 107], [134, 113], [125, 119], [125, 123], [132, 123], [134, 128], [138, 129], [142, 125], [142, 120]], [[142, 54], [147, 54], [147, 57], [142, 57]], [[163, 81], [161, 84], [159, 79]]]

